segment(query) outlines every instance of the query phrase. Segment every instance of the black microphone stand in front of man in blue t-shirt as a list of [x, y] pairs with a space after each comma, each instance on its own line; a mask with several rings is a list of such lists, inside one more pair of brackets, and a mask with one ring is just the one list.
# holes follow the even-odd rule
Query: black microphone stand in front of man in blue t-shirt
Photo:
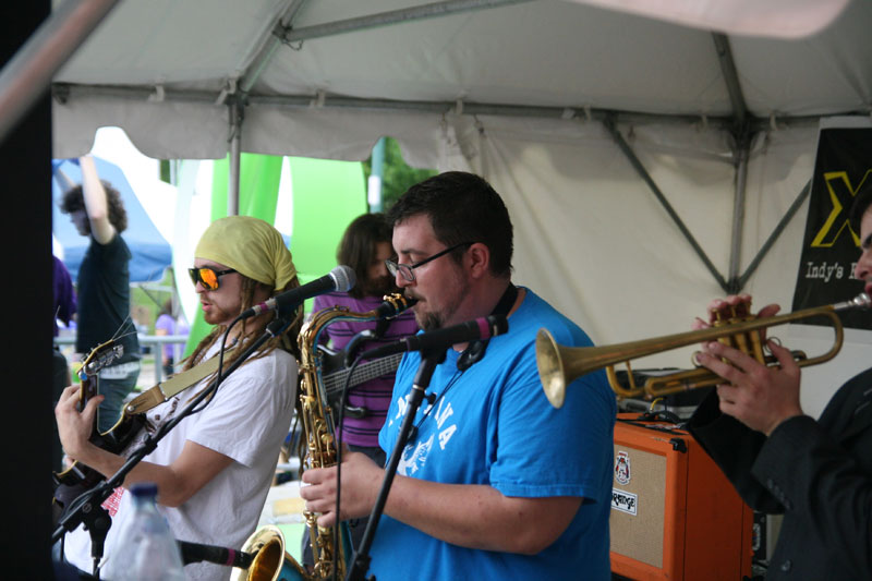
[[[382, 489], [378, 491], [378, 498], [376, 498], [373, 511], [370, 515], [370, 521], [366, 523], [366, 530], [363, 532], [360, 547], [354, 552], [351, 559], [351, 566], [346, 576], [347, 581], [363, 581], [366, 579], [366, 571], [370, 569], [370, 547], [373, 544], [375, 530], [378, 526], [378, 521], [385, 511], [385, 504], [388, 499], [390, 486], [393, 483], [393, 476], [397, 473], [397, 467], [400, 463], [402, 450], [405, 447], [405, 440], [409, 439], [409, 434], [412, 433], [412, 425], [417, 415], [417, 409], [424, 400], [425, 391], [429, 387], [429, 380], [433, 377], [433, 372], [436, 371], [436, 365], [445, 361], [445, 354], [448, 348], [438, 350], [422, 350], [421, 363], [417, 366], [414, 382], [412, 382], [411, 397], [409, 398], [409, 409], [405, 412], [405, 417], [402, 420], [400, 433], [397, 435], [397, 443], [393, 445], [393, 450], [390, 453], [388, 465], [385, 469], [385, 479], [382, 481]], [[341, 487], [341, 483], [340, 483]], [[337, 517], [338, 518], [338, 517]], [[375, 579], [371, 577], [370, 579]]]

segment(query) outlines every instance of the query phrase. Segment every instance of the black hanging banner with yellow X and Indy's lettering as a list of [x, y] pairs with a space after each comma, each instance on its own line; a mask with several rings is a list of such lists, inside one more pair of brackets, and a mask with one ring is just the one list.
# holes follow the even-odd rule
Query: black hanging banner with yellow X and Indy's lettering
[[[860, 186], [872, 180], [872, 126], [822, 126], [809, 198], [809, 216], [794, 292], [792, 311], [847, 301], [863, 290], [853, 276], [860, 232], [848, 216]], [[839, 314], [846, 327], [871, 329], [862, 311]], [[827, 325], [826, 319], [808, 319]]]

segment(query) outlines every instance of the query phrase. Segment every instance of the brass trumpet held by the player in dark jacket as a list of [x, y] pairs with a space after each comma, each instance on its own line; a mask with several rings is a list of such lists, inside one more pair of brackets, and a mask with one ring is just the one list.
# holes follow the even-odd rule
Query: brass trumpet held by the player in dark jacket
[[801, 352], [794, 354], [800, 367], [816, 365], [829, 361], [841, 349], [844, 329], [841, 320], [836, 313], [848, 308], [869, 308], [870, 305], [872, 305], [872, 300], [867, 293], [862, 292], [849, 301], [797, 311], [786, 315], [756, 318], [750, 314], [742, 313], [737, 317], [740, 319], [738, 322], [729, 319], [715, 323], [714, 326], [707, 329], [678, 332], [605, 347], [559, 346], [550, 332], [542, 328], [536, 335], [536, 366], [538, 367], [538, 375], [545, 396], [555, 408], [560, 408], [564, 404], [567, 384], [584, 374], [602, 368], [606, 368], [611, 389], [615, 390], [619, 399], [640, 396], [645, 399], [654, 399], [659, 396], [722, 384], [724, 379], [707, 368], [698, 366], [690, 371], [652, 377], [641, 387], [635, 386], [632, 380], [632, 373], [629, 373], [630, 387], [626, 388], [619, 385], [617, 380], [615, 365], [623, 362], [630, 370], [630, 360], [632, 359], [713, 340], [736, 347], [761, 363], [767, 365], [777, 364], [774, 358], [763, 354], [760, 330], [810, 317], [824, 316], [832, 323], [835, 334], [833, 347], [829, 351], [811, 359]]

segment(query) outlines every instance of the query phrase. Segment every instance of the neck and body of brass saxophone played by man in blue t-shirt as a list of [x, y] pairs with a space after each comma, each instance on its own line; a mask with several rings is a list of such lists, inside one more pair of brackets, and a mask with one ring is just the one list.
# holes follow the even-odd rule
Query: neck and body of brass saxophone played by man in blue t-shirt
[[[415, 303], [401, 294], [388, 294], [384, 302], [373, 311], [352, 313], [344, 306], [334, 306], [315, 313], [303, 326], [298, 337], [300, 347], [300, 403], [302, 415], [302, 434], [305, 438], [304, 470], [311, 468], [328, 468], [336, 465], [336, 425], [332, 409], [322, 380], [320, 352], [316, 349], [320, 332], [337, 320], [377, 320], [392, 318]], [[329, 579], [334, 574], [334, 565], [339, 579], [344, 579], [348, 561], [351, 558], [351, 536], [348, 525], [339, 524], [338, 545], [334, 528], [317, 525], [317, 515], [303, 511], [308, 528], [314, 570], [307, 579]]]

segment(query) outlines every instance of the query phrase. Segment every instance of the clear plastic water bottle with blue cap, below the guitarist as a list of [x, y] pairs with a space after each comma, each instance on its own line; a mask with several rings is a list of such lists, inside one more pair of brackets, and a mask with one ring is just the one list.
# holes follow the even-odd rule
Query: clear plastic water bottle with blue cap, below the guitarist
[[112, 581], [184, 581], [179, 545], [157, 509], [157, 485], [150, 482], [131, 486], [133, 517], [121, 531], [121, 549], [111, 556]]

